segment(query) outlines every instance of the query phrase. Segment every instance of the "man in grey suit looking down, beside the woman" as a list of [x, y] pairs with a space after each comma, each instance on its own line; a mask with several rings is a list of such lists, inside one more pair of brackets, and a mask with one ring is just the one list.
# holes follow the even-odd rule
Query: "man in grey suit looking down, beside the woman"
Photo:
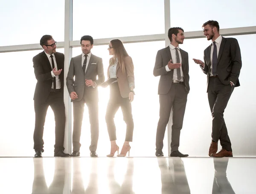
[[[96, 86], [105, 81], [105, 76], [102, 58], [90, 52], [93, 48], [93, 38], [91, 36], [83, 36], [80, 44], [83, 53], [71, 59], [67, 74], [67, 89], [73, 102], [73, 153], [71, 156], [80, 156], [81, 125], [85, 103], [88, 107], [90, 118], [90, 156], [97, 157], [99, 115], [98, 90]], [[98, 76], [98, 79], [96, 79], [96, 76]]]

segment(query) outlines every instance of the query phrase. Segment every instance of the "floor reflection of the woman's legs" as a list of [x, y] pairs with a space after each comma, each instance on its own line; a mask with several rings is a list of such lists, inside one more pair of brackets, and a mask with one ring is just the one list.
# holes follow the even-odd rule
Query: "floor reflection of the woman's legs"
[[108, 167], [108, 185], [111, 194], [135, 194], [133, 187], [134, 159], [129, 158], [122, 185], [115, 180], [115, 160], [111, 160]]

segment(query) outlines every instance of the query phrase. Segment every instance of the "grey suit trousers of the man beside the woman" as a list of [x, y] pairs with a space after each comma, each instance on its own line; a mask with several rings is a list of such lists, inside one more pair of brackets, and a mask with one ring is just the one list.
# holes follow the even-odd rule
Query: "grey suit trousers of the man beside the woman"
[[73, 151], [79, 151], [81, 147], [81, 127], [84, 116], [84, 104], [88, 107], [90, 119], [91, 144], [90, 151], [96, 151], [99, 139], [99, 107], [98, 99], [86, 98], [73, 102]]

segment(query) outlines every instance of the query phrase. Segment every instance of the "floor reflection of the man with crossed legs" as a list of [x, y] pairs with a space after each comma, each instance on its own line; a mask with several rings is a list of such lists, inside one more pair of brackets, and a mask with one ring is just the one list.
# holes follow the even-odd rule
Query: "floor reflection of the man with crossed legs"
[[215, 173], [212, 194], [235, 194], [230, 182], [227, 180], [228, 160], [228, 157], [213, 158]]

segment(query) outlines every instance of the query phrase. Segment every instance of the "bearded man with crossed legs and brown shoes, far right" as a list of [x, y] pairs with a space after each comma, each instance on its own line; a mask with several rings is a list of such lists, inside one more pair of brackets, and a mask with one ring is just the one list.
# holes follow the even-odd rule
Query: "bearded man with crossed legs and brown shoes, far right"
[[[241, 52], [235, 38], [221, 37], [217, 21], [209, 20], [202, 27], [204, 35], [207, 40], [212, 40], [212, 44], [204, 50], [204, 62], [193, 60], [200, 64], [203, 72], [207, 74], [208, 101], [212, 112], [212, 142], [209, 156], [232, 157], [231, 142], [223, 113], [234, 87], [240, 86], [238, 77], [242, 67]], [[218, 140], [222, 149], [216, 154]]]

